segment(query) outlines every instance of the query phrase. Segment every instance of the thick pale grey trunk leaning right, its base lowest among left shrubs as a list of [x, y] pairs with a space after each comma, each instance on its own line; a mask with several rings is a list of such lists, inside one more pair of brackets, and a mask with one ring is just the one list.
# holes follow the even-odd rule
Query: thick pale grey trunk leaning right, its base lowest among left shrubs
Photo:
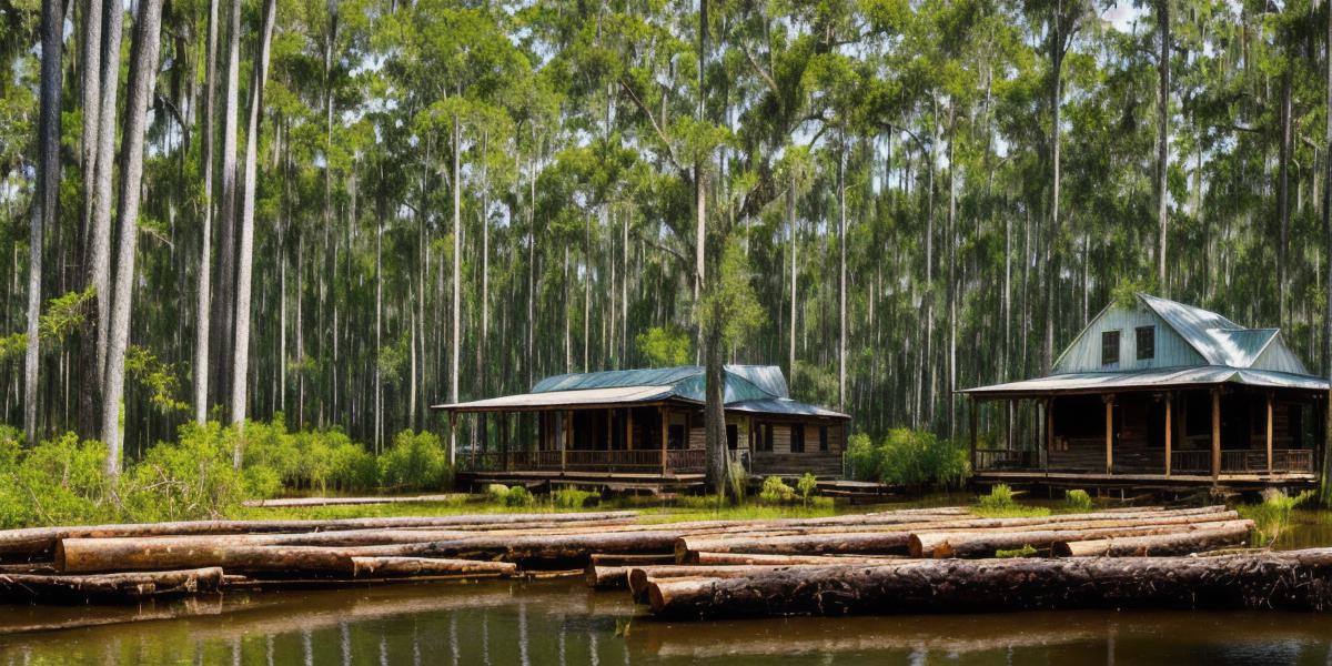
[[157, 84], [157, 49], [161, 44], [161, 0], [141, 0], [135, 21], [133, 60], [129, 65], [129, 99], [120, 169], [120, 224], [115, 288], [111, 301], [111, 332], [107, 345], [107, 392], [103, 400], [101, 433], [107, 442], [107, 476], [120, 477], [120, 408], [125, 392], [125, 350], [129, 346], [129, 309], [135, 293], [135, 254], [139, 241], [139, 197], [144, 174], [144, 140], [148, 101]]

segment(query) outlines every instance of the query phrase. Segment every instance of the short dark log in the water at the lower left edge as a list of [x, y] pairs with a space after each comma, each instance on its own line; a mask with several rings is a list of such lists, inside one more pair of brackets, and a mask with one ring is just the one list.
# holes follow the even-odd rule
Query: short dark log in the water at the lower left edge
[[216, 593], [220, 567], [101, 575], [0, 574], [0, 599], [23, 602], [132, 602]]

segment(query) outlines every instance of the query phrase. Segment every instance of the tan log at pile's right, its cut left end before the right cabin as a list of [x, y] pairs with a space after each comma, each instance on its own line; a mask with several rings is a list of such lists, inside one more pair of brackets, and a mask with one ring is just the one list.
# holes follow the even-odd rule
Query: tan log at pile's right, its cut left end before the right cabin
[[[910, 551], [914, 557], [995, 557], [998, 550], [1016, 550], [1031, 546], [1036, 550], [1048, 551], [1058, 541], [1090, 541], [1119, 537], [1146, 537], [1148, 534], [1180, 534], [1197, 530], [1211, 530], [1220, 527], [1241, 526], [1245, 530], [1253, 529], [1252, 521], [1216, 521], [1192, 523], [1160, 523], [1135, 526], [1106, 526], [1084, 529], [1052, 529], [1032, 531], [963, 531], [963, 533], [928, 533], [912, 534], [910, 538]], [[930, 555], [926, 555], [928, 553]]]

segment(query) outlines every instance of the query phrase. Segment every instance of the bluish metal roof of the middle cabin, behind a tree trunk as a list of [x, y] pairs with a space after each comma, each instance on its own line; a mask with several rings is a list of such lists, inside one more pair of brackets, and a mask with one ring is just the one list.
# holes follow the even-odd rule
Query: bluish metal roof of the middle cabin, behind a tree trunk
[[[786, 377], [782, 374], [782, 369], [775, 365], [727, 365], [723, 372], [726, 376], [726, 388], [722, 400], [726, 404], [726, 409], [750, 413], [850, 418], [839, 412], [791, 400]], [[515, 412], [523, 409], [662, 401], [701, 405], [707, 398], [706, 386], [707, 374], [701, 365], [603, 370], [546, 377], [538, 381], [530, 393], [452, 405], [434, 405], [434, 408], [450, 412]]]

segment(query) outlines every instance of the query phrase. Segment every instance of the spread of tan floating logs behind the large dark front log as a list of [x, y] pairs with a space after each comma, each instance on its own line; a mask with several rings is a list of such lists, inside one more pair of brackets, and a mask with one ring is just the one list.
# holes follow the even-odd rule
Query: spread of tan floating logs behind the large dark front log
[[[0, 563], [0, 602], [133, 602], [229, 589], [534, 577], [577, 567], [589, 586], [629, 589], [663, 615], [802, 613], [843, 609], [825, 598], [838, 594], [832, 581], [839, 577], [851, 577], [844, 578], [848, 585], [883, 578], [892, 582], [882, 583], [883, 590], [904, 594], [907, 583], [896, 582], [902, 577], [935, 581], [939, 570], [964, 581], [972, 563], [960, 558], [995, 558], [1028, 546], [1027, 553], [1058, 558], [1177, 555], [1243, 545], [1252, 527], [1223, 506], [1023, 518], [978, 518], [964, 507], [942, 507], [654, 521], [661, 518], [601, 511], [9, 530], [0, 531], [0, 559], [7, 562]], [[1086, 571], [1062, 574], [1066, 565], [1056, 559], [975, 565], [984, 585], [1024, 575], [1020, 567], [1052, 566], [1056, 577]], [[891, 573], [898, 570], [903, 573]], [[810, 587], [799, 582], [805, 578]], [[876, 603], [872, 590], [846, 593], [852, 599], [835, 611], [866, 611]]]

